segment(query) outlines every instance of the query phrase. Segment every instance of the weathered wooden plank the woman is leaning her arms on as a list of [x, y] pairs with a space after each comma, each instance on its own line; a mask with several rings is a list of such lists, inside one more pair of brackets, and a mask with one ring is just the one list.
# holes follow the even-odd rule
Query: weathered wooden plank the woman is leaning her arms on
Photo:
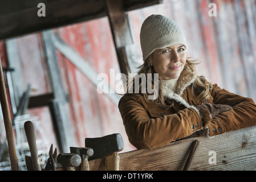
[[[255, 170], [256, 126], [230, 131], [214, 138], [196, 137], [172, 142], [154, 150], [121, 153], [120, 171], [182, 170], [194, 140], [201, 144], [190, 170]], [[216, 164], [211, 159], [216, 154]], [[210, 161], [210, 162], [209, 162]], [[104, 159], [89, 162], [90, 170], [105, 170]]]

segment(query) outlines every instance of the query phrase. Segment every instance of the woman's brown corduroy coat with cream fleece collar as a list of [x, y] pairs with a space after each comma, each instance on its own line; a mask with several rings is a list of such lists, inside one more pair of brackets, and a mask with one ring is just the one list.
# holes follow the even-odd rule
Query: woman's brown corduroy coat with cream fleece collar
[[176, 93], [172, 90], [166, 93], [166, 103], [174, 101], [169, 109], [145, 101], [140, 94], [127, 93], [121, 98], [119, 110], [133, 146], [152, 149], [202, 131], [206, 131], [208, 137], [213, 137], [256, 125], [256, 105], [253, 100], [227, 92], [214, 84], [208, 103], [226, 104], [232, 109], [218, 114], [203, 126], [201, 115], [194, 107], [202, 104], [192, 94], [195, 78], [195, 72], [185, 69], [181, 72]]

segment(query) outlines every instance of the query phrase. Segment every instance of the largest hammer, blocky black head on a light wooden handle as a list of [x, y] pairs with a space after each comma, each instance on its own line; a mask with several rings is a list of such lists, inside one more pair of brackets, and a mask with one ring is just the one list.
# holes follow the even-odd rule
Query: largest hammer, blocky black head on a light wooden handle
[[108, 171], [119, 171], [119, 155], [124, 143], [120, 134], [106, 135], [99, 138], [86, 138], [86, 147], [94, 150], [94, 155], [89, 160], [105, 158]]

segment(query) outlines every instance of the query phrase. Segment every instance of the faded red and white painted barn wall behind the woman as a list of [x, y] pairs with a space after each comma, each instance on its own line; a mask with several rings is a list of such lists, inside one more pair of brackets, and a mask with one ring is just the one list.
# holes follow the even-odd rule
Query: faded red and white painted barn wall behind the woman
[[[216, 17], [208, 15], [208, 5], [211, 2], [217, 5]], [[210, 81], [230, 92], [251, 97], [256, 101], [254, 0], [164, 1], [162, 5], [130, 11], [128, 15], [135, 42], [139, 46], [141, 24], [151, 14], [168, 16], [180, 24], [188, 41], [188, 55], [201, 61], [198, 65], [199, 75], [205, 75]], [[115, 69], [116, 73], [120, 72], [107, 17], [56, 28], [54, 31], [97, 73], [106, 73], [110, 78], [110, 69]], [[32, 95], [51, 92], [41, 35], [31, 34], [17, 38], [16, 44], [23, 70], [22, 89], [25, 90], [26, 85], [31, 82]], [[2, 61], [6, 60], [4, 52], [3, 43], [0, 42]], [[70, 98], [69, 114], [74, 130], [72, 135], [75, 136], [78, 145], [84, 146], [86, 137], [121, 133], [124, 138], [124, 151], [134, 150], [128, 142], [117, 106], [105, 94], [97, 93], [96, 86], [62, 53], [56, 50], [56, 54], [63, 87]], [[48, 109], [31, 109], [29, 113], [39, 116], [44, 130], [47, 131], [47, 139], [55, 141]]]

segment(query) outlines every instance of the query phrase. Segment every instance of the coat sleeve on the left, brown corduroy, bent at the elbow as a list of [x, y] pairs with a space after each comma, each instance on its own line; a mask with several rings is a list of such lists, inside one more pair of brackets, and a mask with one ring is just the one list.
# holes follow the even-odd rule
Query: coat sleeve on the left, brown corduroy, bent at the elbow
[[200, 115], [193, 108], [161, 118], [150, 118], [138, 98], [123, 96], [119, 110], [129, 142], [138, 149], [161, 147], [202, 129]]

